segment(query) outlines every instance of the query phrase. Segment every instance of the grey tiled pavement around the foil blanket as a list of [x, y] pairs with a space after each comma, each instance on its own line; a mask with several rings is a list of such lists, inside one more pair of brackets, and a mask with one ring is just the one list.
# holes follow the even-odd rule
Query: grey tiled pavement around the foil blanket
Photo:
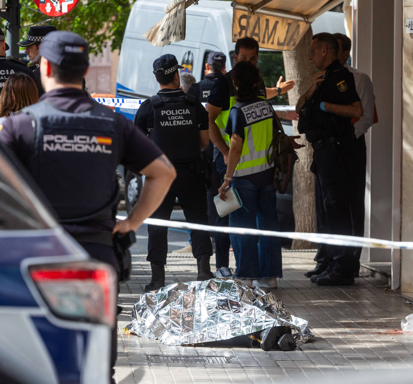
[[[310, 252], [283, 253], [284, 278], [274, 290], [316, 335], [294, 351], [171, 347], [124, 334], [128, 313], [150, 280], [145, 257], [133, 257], [133, 276], [121, 285], [118, 383], [413, 383], [413, 332], [400, 329], [413, 305], [370, 277], [349, 287], [312, 284], [303, 275], [314, 265]], [[195, 278], [192, 254], [168, 255], [166, 284]]]

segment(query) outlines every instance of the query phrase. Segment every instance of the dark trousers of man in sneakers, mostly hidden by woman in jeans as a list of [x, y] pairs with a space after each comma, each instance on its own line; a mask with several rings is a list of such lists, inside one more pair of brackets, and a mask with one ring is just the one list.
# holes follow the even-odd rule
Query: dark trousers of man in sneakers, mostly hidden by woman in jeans
[[[215, 160], [216, 170], [219, 174], [219, 181], [220, 185], [224, 182], [224, 175], [227, 172], [227, 166], [224, 162], [224, 157], [222, 153], [218, 155]], [[218, 191], [217, 191], [218, 192]], [[224, 217], [219, 217], [218, 214], [216, 215], [215, 225], [217, 227], [229, 227], [230, 226], [230, 215], [226, 215]], [[215, 232], [215, 259], [216, 259], [216, 267], [229, 267], [230, 262], [230, 235]]]

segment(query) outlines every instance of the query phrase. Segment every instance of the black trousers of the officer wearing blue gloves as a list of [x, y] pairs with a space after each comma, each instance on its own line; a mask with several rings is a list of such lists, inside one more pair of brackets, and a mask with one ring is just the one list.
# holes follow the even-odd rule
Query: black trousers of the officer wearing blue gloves
[[[353, 143], [332, 144], [314, 151], [310, 169], [314, 173], [318, 233], [353, 235], [350, 198], [353, 161]], [[321, 244], [314, 260], [346, 276], [353, 276], [357, 267], [354, 247]]]

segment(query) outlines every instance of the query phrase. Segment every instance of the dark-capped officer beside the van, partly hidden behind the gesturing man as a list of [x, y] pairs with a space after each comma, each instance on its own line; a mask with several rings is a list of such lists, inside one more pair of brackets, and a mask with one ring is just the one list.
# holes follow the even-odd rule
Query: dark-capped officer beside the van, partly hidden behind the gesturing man
[[209, 52], [207, 62], [205, 63], [205, 79], [192, 84], [188, 93], [199, 98], [202, 103], [206, 103], [216, 79], [225, 73], [225, 61], [226, 56], [223, 52]]

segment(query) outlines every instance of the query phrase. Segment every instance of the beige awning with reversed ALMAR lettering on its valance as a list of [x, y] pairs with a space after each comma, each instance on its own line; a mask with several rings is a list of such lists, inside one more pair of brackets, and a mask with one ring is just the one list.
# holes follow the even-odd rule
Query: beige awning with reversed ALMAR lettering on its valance
[[232, 40], [255, 38], [261, 48], [293, 50], [311, 22], [343, 0], [236, 0]]

